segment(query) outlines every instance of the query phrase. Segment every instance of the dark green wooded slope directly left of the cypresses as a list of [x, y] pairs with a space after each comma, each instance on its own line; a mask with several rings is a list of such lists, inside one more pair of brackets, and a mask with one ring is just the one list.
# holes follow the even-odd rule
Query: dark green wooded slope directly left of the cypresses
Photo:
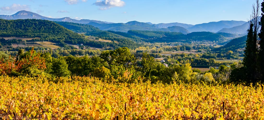
[[238, 37], [238, 38], [232, 39], [225, 46], [216, 48], [213, 51], [227, 52], [229, 50], [232, 50], [232, 51], [235, 51], [238, 49], [241, 50], [241, 49], [244, 49], [246, 47], [246, 40], [247, 40], [247, 36]]

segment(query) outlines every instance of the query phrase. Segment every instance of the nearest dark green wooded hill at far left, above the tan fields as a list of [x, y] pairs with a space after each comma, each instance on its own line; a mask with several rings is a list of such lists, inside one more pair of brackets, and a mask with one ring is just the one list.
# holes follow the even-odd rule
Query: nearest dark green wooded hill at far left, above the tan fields
[[0, 36], [39, 37], [44, 41], [69, 41], [83, 39], [82, 36], [55, 22], [36, 19], [0, 19]]

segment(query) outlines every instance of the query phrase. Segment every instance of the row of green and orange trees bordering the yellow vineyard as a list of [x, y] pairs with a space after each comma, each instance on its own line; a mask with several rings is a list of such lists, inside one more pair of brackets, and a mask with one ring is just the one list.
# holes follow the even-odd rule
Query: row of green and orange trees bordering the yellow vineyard
[[[6, 56], [5, 56], [6, 57]], [[138, 60], [140, 59], [140, 60]], [[106, 82], [132, 83], [142, 78], [143, 81], [156, 83], [226, 83], [231, 67], [220, 66], [219, 70], [210, 69], [205, 73], [191, 70], [189, 63], [173, 64], [168, 67], [156, 62], [154, 57], [142, 53], [134, 55], [126, 47], [106, 50], [100, 56], [93, 57], [58, 57], [50, 52], [39, 53], [34, 49], [24, 52], [19, 50], [15, 59], [1, 60], [0, 73], [8, 76], [94, 76]], [[114, 80], [114, 81], [112, 81]]]

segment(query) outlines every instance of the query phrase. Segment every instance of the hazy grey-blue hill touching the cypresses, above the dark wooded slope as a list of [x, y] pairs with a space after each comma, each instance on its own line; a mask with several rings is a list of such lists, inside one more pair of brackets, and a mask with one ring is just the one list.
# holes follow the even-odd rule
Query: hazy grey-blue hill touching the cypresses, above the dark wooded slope
[[232, 34], [244, 34], [247, 32], [248, 27], [249, 27], [249, 23], [247, 22], [240, 26], [235, 26], [232, 28], [223, 28], [222, 30], [218, 32], [225, 32], [225, 33], [232, 33]]

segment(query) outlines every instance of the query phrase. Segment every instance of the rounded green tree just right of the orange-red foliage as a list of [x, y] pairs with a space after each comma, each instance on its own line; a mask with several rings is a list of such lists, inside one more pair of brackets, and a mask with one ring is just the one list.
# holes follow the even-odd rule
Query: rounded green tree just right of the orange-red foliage
[[68, 70], [68, 64], [62, 57], [52, 59], [52, 72], [51, 73], [58, 77], [70, 76], [70, 71]]

